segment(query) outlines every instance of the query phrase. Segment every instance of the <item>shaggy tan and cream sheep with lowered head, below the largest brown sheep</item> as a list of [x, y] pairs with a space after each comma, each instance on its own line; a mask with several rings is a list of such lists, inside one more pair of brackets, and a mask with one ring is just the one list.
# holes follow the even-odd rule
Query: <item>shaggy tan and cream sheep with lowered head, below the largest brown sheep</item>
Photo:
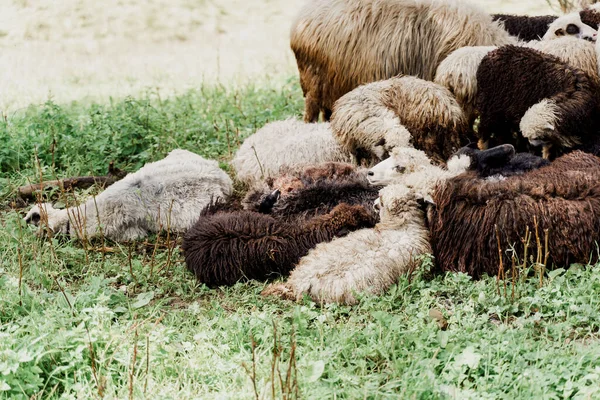
[[368, 83], [336, 101], [331, 129], [342, 148], [368, 163], [394, 147], [414, 146], [444, 163], [469, 141], [464, 113], [450, 91], [413, 76]]

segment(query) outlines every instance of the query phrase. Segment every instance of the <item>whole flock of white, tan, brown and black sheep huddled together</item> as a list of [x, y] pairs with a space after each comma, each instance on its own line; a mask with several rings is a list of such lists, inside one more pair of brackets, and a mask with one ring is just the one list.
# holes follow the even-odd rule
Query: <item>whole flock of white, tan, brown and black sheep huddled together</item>
[[174, 150], [25, 219], [80, 239], [185, 233], [188, 269], [208, 286], [289, 275], [263, 294], [343, 304], [423, 254], [438, 271], [497, 274], [533, 229], [548, 232], [548, 264], [588, 262], [599, 24], [594, 6], [529, 17], [458, 0], [308, 1], [291, 30], [304, 122], [244, 141], [231, 163], [243, 197], [217, 162]]

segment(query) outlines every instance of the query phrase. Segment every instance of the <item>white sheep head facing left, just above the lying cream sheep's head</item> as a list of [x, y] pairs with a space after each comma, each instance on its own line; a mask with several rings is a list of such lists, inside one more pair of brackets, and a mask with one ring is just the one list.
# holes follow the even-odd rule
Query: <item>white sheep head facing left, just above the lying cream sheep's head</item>
[[410, 147], [396, 147], [392, 155], [367, 172], [371, 185], [389, 185], [404, 174], [431, 165], [427, 155]]

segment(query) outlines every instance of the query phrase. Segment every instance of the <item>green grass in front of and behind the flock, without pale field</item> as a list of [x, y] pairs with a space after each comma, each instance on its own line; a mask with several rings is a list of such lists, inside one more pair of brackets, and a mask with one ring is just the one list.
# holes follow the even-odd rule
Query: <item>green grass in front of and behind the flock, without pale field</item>
[[104, 174], [109, 161], [132, 171], [175, 147], [226, 167], [245, 136], [301, 109], [291, 80], [48, 103], [4, 119], [0, 398], [237, 399], [255, 398], [255, 387], [260, 398], [600, 396], [591, 266], [551, 271], [541, 287], [531, 273], [514, 298], [493, 277], [419, 273], [357, 306], [320, 307], [262, 298], [262, 282], [199, 285], [164, 236], [100, 252], [102, 243], [38, 238], [11, 209], [15, 188], [39, 180], [36, 154], [48, 179]]

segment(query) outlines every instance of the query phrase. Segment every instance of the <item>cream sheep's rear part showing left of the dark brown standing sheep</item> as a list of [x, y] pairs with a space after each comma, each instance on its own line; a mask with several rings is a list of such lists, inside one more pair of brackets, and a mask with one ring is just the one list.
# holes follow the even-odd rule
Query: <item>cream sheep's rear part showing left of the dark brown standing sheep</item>
[[477, 118], [477, 69], [483, 57], [496, 46], [467, 46], [454, 50], [438, 66], [434, 81], [446, 87], [462, 107], [467, 125], [473, 126]]

